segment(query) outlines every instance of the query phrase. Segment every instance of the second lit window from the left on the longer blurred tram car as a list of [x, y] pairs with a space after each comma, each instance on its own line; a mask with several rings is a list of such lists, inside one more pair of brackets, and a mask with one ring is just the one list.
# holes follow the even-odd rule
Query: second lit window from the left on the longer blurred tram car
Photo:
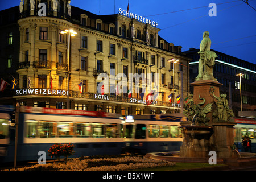
[[38, 133], [40, 138], [54, 138], [56, 135], [56, 126], [52, 122], [40, 122]]

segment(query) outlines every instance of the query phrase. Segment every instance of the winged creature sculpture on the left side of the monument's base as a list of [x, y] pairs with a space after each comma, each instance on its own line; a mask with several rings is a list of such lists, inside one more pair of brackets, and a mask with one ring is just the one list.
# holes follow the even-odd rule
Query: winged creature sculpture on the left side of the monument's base
[[195, 104], [193, 101], [193, 94], [189, 94], [189, 100], [185, 104], [183, 114], [188, 118], [188, 121], [191, 122], [191, 125], [208, 125], [207, 122], [209, 122], [210, 119], [207, 118], [206, 115], [212, 111], [212, 103], [208, 103], [202, 108], [201, 105], [204, 105], [205, 99], [200, 98], [200, 95], [199, 99], [204, 101], [199, 104]]

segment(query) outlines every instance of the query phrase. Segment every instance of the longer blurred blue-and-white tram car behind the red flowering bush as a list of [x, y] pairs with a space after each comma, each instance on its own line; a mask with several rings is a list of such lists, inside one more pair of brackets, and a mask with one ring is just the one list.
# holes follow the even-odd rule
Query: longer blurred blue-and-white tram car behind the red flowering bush
[[[75, 145], [72, 157], [120, 154], [124, 121], [115, 113], [20, 107], [17, 160], [38, 160], [55, 143]], [[2, 162], [14, 161], [15, 127]], [[51, 159], [48, 155], [46, 159]]]

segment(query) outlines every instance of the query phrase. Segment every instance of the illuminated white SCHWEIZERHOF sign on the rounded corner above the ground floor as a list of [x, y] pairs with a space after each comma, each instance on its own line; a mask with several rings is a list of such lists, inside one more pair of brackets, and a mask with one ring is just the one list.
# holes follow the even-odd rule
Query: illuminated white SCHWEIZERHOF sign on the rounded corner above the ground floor
[[67, 96], [68, 91], [55, 90], [55, 89], [20, 89], [20, 90], [16, 90], [16, 95], [27, 95], [27, 94], [45, 94], [45, 95], [55, 95], [55, 96]]

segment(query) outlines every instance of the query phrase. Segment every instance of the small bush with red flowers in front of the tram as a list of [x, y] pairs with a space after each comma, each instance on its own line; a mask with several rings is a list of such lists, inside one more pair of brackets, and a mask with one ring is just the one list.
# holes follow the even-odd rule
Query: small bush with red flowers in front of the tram
[[74, 145], [73, 144], [61, 144], [61, 143], [56, 143], [51, 146], [48, 150], [48, 155], [51, 156], [51, 158], [54, 157], [54, 159], [59, 159], [60, 156], [65, 156], [66, 159], [68, 156], [72, 155]]

